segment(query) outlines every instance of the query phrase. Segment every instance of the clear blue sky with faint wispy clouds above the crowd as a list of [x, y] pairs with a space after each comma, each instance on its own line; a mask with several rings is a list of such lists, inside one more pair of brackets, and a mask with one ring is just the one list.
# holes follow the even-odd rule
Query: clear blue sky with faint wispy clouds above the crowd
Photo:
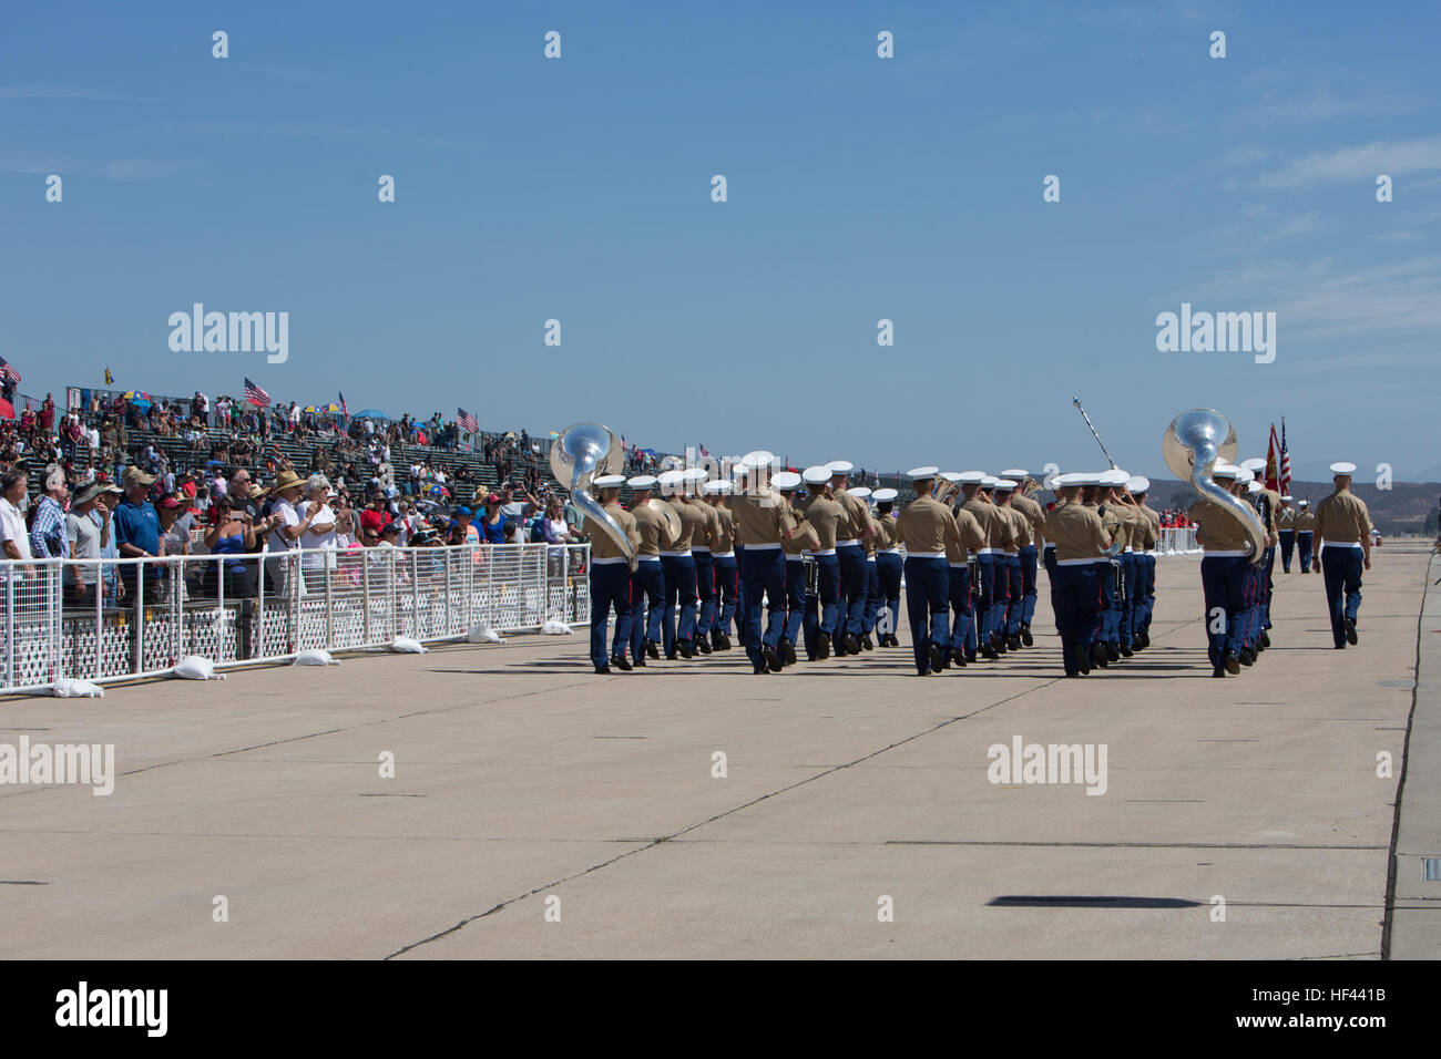
[[[105, 365], [157, 393], [248, 375], [885, 470], [1104, 464], [1079, 393], [1138, 473], [1164, 473], [1177, 412], [1215, 406], [1242, 457], [1284, 414], [1303, 473], [1441, 477], [1441, 4], [3, 17], [0, 354], [26, 393]], [[288, 362], [171, 352], [195, 301], [288, 311]], [[1275, 362], [1159, 353], [1183, 301], [1275, 311]]]

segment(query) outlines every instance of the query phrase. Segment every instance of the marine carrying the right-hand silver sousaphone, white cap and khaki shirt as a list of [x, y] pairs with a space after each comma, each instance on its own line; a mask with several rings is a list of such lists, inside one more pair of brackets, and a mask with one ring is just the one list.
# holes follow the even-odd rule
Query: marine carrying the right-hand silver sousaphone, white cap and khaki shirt
[[[1239, 467], [1216, 464], [1210, 473], [1221, 488], [1235, 487]], [[1241, 671], [1241, 618], [1246, 605], [1249, 539], [1238, 516], [1213, 500], [1200, 499], [1187, 513], [1200, 542], [1200, 585], [1206, 598], [1206, 656], [1212, 676]]]

